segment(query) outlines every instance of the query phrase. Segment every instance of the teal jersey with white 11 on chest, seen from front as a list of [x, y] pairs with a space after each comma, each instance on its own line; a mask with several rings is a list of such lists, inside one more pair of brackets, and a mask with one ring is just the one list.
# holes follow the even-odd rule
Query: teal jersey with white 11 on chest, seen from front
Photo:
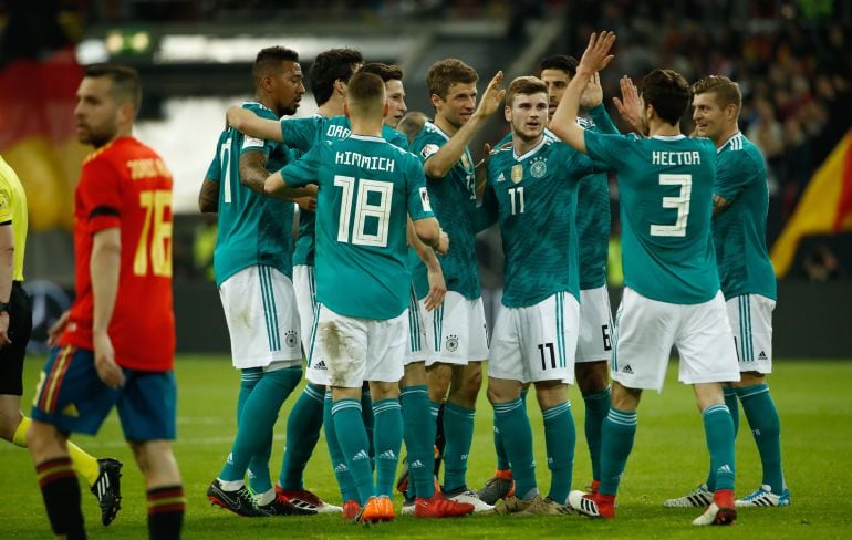
[[550, 136], [522, 156], [511, 145], [493, 153], [480, 211], [500, 225], [503, 305], [534, 305], [561, 291], [579, 301], [576, 187], [594, 172], [589, 157]]

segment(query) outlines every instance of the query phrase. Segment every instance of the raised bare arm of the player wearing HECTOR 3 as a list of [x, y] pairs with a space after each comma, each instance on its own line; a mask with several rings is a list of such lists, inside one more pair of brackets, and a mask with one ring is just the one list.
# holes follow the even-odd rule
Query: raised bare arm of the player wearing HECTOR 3
[[550, 131], [559, 138], [568, 143], [578, 152], [586, 153], [584, 129], [576, 124], [576, 114], [580, 111], [580, 97], [589, 84], [592, 76], [606, 68], [613, 56], [610, 49], [615, 41], [615, 34], [612, 32], [601, 32], [600, 35], [592, 33], [580, 64], [576, 66], [576, 74], [565, 89], [562, 101], [553, 114], [553, 121], [550, 123]]

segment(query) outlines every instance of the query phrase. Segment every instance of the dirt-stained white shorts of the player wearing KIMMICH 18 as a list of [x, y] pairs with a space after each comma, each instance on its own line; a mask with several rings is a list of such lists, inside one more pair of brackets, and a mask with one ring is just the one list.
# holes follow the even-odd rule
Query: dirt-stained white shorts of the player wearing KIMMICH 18
[[316, 307], [316, 332], [308, 361], [308, 381], [360, 388], [364, 381], [396, 383], [403, 377], [408, 310], [394, 319], [355, 319]]

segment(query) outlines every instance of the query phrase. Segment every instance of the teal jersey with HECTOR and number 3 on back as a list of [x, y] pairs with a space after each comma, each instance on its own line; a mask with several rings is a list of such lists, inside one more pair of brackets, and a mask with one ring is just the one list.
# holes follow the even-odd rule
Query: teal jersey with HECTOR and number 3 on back
[[586, 131], [585, 146], [617, 173], [624, 284], [661, 302], [713, 299], [719, 291], [710, 231], [713, 143]]

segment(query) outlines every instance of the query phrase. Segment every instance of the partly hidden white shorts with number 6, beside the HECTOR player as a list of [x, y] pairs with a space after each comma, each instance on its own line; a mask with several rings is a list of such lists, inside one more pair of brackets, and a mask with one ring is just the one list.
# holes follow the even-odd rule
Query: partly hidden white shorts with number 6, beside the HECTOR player
[[580, 291], [580, 335], [574, 362], [609, 362], [612, 357], [612, 308], [606, 285]]

